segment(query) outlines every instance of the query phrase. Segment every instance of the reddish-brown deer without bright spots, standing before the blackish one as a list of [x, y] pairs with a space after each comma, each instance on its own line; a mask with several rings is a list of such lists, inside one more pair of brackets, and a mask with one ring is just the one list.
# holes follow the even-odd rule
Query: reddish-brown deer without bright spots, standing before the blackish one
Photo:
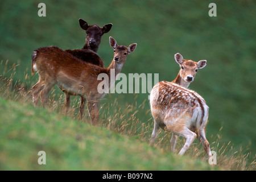
[[[100, 98], [105, 96], [105, 93], [99, 93], [97, 90], [97, 86], [101, 82], [101, 80], [97, 80], [98, 75], [105, 73], [110, 77], [110, 71], [114, 69], [116, 76], [121, 72], [127, 55], [133, 52], [137, 46], [137, 44], [131, 44], [129, 47], [118, 46], [112, 37], [109, 38], [109, 42], [114, 49], [114, 58], [108, 68], [85, 63], [58, 47], [36, 49], [32, 54], [32, 69], [38, 71], [40, 78], [38, 83], [32, 87], [34, 104], [37, 104], [40, 94], [41, 101], [46, 106], [49, 91], [57, 84], [62, 89], [68, 90], [69, 93], [86, 98], [90, 118], [93, 125], [96, 125]], [[83, 112], [84, 103], [81, 102], [81, 118]]]

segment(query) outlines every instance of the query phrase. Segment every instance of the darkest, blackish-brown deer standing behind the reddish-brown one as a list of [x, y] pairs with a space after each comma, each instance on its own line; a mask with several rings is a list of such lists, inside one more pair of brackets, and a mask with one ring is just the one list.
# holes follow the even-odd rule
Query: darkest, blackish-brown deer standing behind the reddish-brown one
[[[108, 33], [112, 28], [112, 23], [105, 24], [103, 27], [99, 27], [96, 24], [89, 26], [85, 20], [79, 19], [80, 27], [86, 31], [85, 45], [82, 49], [67, 49], [68, 53], [76, 56], [78, 59], [85, 61], [86, 63], [91, 63], [104, 68], [104, 62], [101, 60], [100, 56], [97, 55], [98, 47], [101, 43], [101, 36]], [[68, 108], [70, 105], [70, 96], [75, 96], [67, 90], [62, 90], [65, 93], [65, 114], [68, 113]], [[84, 105], [85, 98], [81, 97], [81, 105]], [[83, 103], [83, 104], [82, 104]]]

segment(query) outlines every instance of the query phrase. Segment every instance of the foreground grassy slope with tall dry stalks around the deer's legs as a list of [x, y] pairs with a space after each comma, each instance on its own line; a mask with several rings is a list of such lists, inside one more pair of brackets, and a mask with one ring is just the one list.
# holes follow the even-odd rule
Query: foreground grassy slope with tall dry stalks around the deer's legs
[[[15, 69], [15, 65], [13, 71]], [[26, 80], [26, 79], [25, 79]], [[184, 156], [170, 152], [170, 133], [160, 131], [155, 146], [149, 145], [153, 129], [150, 110], [114, 102], [101, 105], [99, 126], [90, 125], [88, 111], [78, 118], [79, 101], [63, 116], [64, 102], [55, 92], [48, 109], [32, 105], [31, 92], [21, 82], [0, 78], [0, 169], [1, 170], [255, 170], [255, 155], [220, 142], [221, 134], [208, 136], [216, 151], [217, 165], [208, 164], [203, 146], [194, 142]], [[58, 93], [56, 93], [58, 94]], [[135, 100], [137, 98], [134, 98]], [[136, 114], [144, 117], [137, 118]], [[47, 164], [38, 164], [38, 152], [45, 151]]]

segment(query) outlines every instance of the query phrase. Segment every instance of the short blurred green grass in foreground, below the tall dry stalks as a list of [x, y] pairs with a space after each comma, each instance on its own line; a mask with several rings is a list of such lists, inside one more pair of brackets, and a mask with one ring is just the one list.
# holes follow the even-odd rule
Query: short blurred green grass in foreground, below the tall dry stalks
[[[0, 97], [0, 170], [211, 170], [138, 139]], [[38, 152], [46, 152], [46, 165]]]

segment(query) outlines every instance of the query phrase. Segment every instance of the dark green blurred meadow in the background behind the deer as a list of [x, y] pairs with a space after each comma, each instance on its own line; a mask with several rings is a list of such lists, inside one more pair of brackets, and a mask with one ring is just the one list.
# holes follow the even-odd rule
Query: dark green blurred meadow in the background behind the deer
[[[46, 4], [46, 17], [38, 16], [40, 2]], [[193, 61], [207, 60], [207, 66], [199, 70], [189, 88], [203, 96], [210, 108], [208, 140], [213, 145], [216, 139], [221, 143], [231, 141], [237, 150], [242, 147], [244, 154], [250, 152], [255, 156], [256, 3], [253, 0], [213, 1], [217, 5], [217, 16], [210, 17], [210, 2], [3, 0], [0, 2], [0, 75], [11, 77], [29, 91], [38, 80], [37, 74], [31, 76], [34, 49], [82, 48], [85, 32], [79, 26], [79, 18], [99, 26], [113, 23], [112, 30], [102, 36], [98, 50], [105, 67], [113, 59], [109, 36], [120, 45], [138, 44], [122, 68], [126, 75], [159, 73], [159, 81], [172, 81], [179, 72], [175, 53]], [[64, 103], [62, 94], [55, 87], [49, 96], [56, 101], [60, 112]], [[111, 118], [119, 118], [118, 122], [127, 124], [122, 127], [135, 128], [133, 134], [128, 131], [128, 135], [140, 137], [143, 133], [142, 139], [149, 140], [153, 129], [149, 94], [108, 94], [101, 101], [102, 125], [110, 127]], [[78, 113], [77, 98], [72, 98], [76, 110], [71, 112], [72, 118], [77, 118], [73, 114]], [[116, 117], [127, 110], [134, 111], [130, 120]], [[88, 112], [85, 115], [84, 121], [88, 121]], [[139, 122], [135, 122], [136, 119]], [[114, 126], [117, 132], [123, 130], [118, 129], [118, 123]], [[127, 134], [126, 131], [123, 134]], [[166, 137], [164, 141], [168, 143], [170, 134], [158, 137], [160, 146], [168, 146], [161, 144], [161, 136]]]

